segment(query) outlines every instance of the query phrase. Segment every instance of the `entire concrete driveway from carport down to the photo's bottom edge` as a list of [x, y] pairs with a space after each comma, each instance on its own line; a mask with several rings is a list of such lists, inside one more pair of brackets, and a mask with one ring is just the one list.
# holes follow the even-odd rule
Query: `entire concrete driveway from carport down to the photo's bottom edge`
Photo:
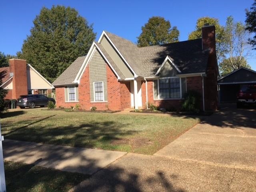
[[71, 191], [255, 192], [255, 126], [255, 110], [223, 107], [153, 156], [128, 153]]

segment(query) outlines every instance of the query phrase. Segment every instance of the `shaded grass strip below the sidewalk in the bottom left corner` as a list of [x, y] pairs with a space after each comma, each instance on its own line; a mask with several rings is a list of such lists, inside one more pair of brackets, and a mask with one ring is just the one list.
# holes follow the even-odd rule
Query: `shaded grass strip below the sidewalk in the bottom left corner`
[[8, 192], [68, 192], [89, 177], [10, 161], [4, 162], [4, 169]]

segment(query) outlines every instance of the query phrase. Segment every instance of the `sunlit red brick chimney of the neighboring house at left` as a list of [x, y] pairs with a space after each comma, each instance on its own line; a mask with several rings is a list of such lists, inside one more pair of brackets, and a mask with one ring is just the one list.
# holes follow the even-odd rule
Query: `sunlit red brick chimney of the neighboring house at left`
[[28, 94], [26, 60], [10, 59], [10, 75], [12, 78], [12, 99]]

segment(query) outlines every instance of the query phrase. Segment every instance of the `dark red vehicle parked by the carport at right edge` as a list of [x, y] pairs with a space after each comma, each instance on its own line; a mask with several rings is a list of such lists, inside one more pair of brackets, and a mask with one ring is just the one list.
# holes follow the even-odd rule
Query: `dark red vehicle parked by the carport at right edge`
[[256, 104], [256, 85], [242, 85], [237, 93], [237, 107]]

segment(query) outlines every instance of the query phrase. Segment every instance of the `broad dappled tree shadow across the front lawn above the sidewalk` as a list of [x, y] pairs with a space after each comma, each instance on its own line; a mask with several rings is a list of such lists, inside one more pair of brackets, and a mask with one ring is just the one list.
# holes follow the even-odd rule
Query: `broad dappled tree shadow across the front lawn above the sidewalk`
[[[29, 125], [31, 124], [33, 123]], [[91, 121], [78, 126], [66, 125], [54, 128], [47, 125], [36, 125], [31, 128], [27, 126], [19, 127], [8, 133], [5, 136], [6, 139], [73, 147], [101, 148], [100, 146], [109, 146], [112, 141], [137, 133], [133, 130], [123, 130], [122, 127], [127, 126], [127, 124], [116, 121]]]

